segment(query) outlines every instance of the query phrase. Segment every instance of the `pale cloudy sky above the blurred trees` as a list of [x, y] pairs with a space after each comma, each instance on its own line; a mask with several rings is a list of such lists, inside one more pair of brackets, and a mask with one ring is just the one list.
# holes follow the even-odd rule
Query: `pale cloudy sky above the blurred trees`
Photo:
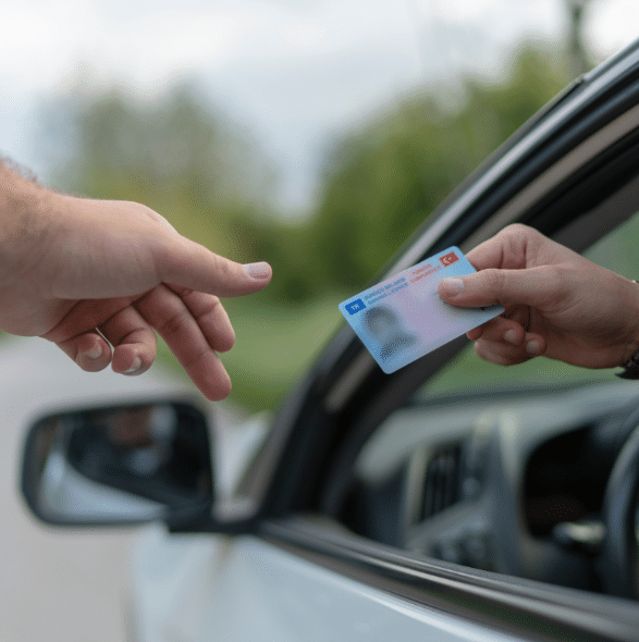
[[[0, 0], [0, 155], [49, 168], [40, 108], [84, 82], [153, 100], [196, 83], [308, 207], [330, 141], [425, 84], [497, 78], [524, 39], [558, 42], [566, 0]], [[636, 0], [590, 0], [600, 58], [639, 37]]]

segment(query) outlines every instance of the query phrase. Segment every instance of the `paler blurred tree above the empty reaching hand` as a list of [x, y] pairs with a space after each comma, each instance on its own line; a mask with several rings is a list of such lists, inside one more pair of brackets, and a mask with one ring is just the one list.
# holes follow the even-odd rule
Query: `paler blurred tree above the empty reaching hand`
[[274, 173], [194, 89], [146, 102], [118, 88], [88, 98], [77, 91], [50, 106], [46, 121], [59, 187], [144, 202], [213, 251], [255, 258], [245, 224], [267, 215]]

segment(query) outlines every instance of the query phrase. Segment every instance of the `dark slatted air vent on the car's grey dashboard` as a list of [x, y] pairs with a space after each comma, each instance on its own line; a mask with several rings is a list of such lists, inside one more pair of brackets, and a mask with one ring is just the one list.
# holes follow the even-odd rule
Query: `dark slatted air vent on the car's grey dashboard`
[[455, 444], [437, 450], [428, 462], [423, 484], [420, 520], [423, 521], [459, 499], [462, 446]]

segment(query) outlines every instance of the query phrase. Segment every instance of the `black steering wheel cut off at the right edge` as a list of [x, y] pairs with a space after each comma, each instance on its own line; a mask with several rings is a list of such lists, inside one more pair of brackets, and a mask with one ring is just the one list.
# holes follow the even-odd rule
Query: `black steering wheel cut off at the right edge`
[[607, 593], [639, 598], [639, 545], [636, 513], [639, 499], [639, 425], [622, 447], [603, 499], [605, 536], [599, 571]]

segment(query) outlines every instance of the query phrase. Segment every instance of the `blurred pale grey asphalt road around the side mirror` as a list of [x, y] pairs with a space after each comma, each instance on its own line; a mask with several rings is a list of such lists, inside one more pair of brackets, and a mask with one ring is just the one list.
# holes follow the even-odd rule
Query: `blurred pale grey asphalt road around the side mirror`
[[67, 530], [36, 521], [19, 491], [23, 440], [34, 418], [52, 407], [168, 396], [184, 384], [156, 366], [138, 378], [85, 373], [44, 339], [0, 342], [0, 639], [127, 641], [135, 529]]

